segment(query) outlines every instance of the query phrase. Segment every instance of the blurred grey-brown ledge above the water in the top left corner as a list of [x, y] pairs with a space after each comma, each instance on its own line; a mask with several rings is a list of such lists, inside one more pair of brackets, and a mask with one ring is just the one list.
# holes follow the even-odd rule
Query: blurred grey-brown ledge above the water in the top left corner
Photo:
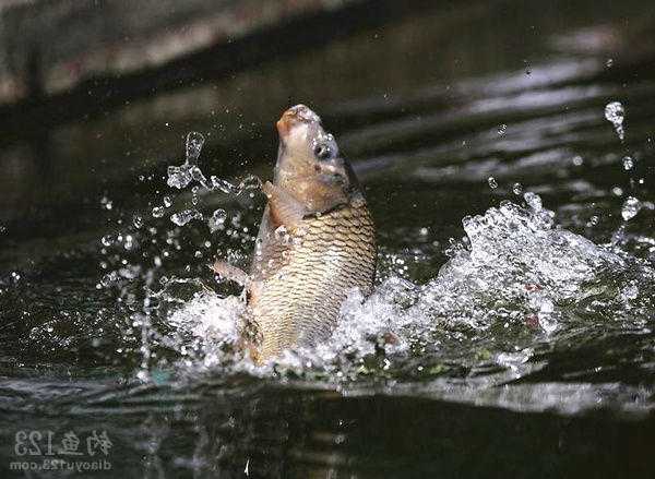
[[5, 0], [0, 105], [136, 73], [360, 0]]

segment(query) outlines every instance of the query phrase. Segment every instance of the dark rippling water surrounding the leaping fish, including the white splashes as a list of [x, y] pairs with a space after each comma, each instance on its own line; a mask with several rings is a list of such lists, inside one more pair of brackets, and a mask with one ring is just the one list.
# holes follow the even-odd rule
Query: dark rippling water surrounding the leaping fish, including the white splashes
[[[74, 475], [9, 471], [20, 431], [110, 462], [87, 477], [652, 474], [653, 33], [643, 2], [453, 2], [0, 136], [2, 476]], [[206, 264], [248, 263], [296, 103], [365, 184], [380, 275], [258, 369]], [[191, 131], [229, 191], [167, 184]]]

